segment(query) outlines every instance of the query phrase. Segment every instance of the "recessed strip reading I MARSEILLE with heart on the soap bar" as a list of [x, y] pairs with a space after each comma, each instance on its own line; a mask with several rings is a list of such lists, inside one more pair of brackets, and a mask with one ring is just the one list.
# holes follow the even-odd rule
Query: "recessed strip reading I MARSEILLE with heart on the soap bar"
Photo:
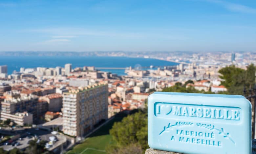
[[230, 106], [209, 106], [193, 105], [180, 103], [160, 103], [154, 105], [154, 114], [157, 117], [164, 118], [206, 118], [239, 121], [242, 117], [242, 111], [239, 107]]

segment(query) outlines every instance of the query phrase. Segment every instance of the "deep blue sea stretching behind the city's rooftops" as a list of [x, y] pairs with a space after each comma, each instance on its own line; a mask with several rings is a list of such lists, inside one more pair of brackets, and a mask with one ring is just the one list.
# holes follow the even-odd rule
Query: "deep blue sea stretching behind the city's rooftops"
[[[64, 67], [71, 63], [72, 68], [83, 66], [95, 67], [141, 67], [153, 66], [174, 66], [177, 63], [149, 58], [131, 57], [100, 57], [100, 56], [0, 56], [0, 65], [8, 66], [8, 74], [14, 70], [19, 71], [20, 67]], [[126, 75], [124, 69], [101, 69], [118, 75]]]

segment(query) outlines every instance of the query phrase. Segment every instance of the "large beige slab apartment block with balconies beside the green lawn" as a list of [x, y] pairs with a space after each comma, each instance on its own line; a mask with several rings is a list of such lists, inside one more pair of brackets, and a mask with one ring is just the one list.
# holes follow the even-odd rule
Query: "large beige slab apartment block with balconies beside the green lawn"
[[102, 119], [108, 119], [108, 86], [94, 84], [63, 93], [63, 132], [84, 136]]

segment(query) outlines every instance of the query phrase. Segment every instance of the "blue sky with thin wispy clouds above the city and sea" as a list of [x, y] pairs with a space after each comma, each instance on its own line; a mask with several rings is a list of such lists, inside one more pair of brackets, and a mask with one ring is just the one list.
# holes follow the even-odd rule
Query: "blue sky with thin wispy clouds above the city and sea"
[[0, 51], [256, 51], [256, 0], [0, 0]]

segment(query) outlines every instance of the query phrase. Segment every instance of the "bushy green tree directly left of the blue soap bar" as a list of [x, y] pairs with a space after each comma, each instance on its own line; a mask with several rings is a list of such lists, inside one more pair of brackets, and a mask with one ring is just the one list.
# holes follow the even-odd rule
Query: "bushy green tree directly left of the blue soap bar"
[[147, 143], [147, 114], [141, 111], [128, 115], [121, 122], [117, 122], [110, 130], [113, 143], [108, 148], [109, 153], [116, 153], [125, 147], [133, 146], [132, 143], [140, 145], [141, 151], [148, 148]]

